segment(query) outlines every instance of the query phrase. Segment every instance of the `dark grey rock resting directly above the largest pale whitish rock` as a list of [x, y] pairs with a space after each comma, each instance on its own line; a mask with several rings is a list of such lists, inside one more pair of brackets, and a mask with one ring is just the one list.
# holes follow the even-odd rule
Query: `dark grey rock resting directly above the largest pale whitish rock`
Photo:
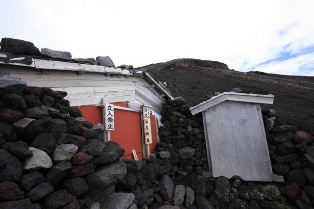
[[55, 144], [55, 138], [51, 133], [41, 133], [34, 139], [31, 146], [42, 150], [51, 156], [55, 149]]

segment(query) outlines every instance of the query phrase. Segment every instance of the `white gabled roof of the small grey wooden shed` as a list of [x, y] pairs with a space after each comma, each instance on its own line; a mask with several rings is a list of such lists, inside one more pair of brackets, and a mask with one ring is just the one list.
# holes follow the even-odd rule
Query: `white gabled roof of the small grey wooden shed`
[[224, 92], [211, 99], [204, 101], [196, 106], [192, 106], [190, 111], [192, 115], [202, 112], [209, 107], [215, 106], [225, 101], [237, 101], [246, 103], [259, 103], [259, 104], [273, 104], [274, 95], [263, 95], [263, 94], [243, 94], [235, 92]]

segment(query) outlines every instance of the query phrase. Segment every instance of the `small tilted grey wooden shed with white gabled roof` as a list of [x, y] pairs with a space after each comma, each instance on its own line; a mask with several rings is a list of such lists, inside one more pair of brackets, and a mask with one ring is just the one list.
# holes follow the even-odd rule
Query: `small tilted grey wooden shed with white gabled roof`
[[213, 177], [238, 176], [244, 181], [262, 182], [278, 178], [272, 175], [260, 107], [273, 104], [273, 100], [273, 95], [224, 92], [190, 108], [192, 115], [203, 114]]

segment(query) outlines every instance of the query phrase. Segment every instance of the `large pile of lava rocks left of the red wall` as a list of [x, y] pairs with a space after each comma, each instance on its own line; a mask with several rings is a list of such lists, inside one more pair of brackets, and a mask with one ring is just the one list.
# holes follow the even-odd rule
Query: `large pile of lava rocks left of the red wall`
[[124, 150], [104, 143], [103, 126], [85, 121], [66, 92], [0, 80], [0, 209], [112, 207], [127, 175]]

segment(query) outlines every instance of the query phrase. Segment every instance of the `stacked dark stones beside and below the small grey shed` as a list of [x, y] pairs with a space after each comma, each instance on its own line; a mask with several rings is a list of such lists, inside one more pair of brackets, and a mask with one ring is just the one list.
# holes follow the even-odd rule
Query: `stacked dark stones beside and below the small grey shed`
[[309, 133], [275, 119], [274, 110], [264, 111], [273, 172], [284, 175], [285, 183], [211, 178], [201, 115], [192, 116], [182, 98], [164, 104], [157, 152], [145, 164], [127, 160], [127, 176], [116, 186], [118, 191], [133, 193], [138, 208], [313, 208], [313, 137]]

